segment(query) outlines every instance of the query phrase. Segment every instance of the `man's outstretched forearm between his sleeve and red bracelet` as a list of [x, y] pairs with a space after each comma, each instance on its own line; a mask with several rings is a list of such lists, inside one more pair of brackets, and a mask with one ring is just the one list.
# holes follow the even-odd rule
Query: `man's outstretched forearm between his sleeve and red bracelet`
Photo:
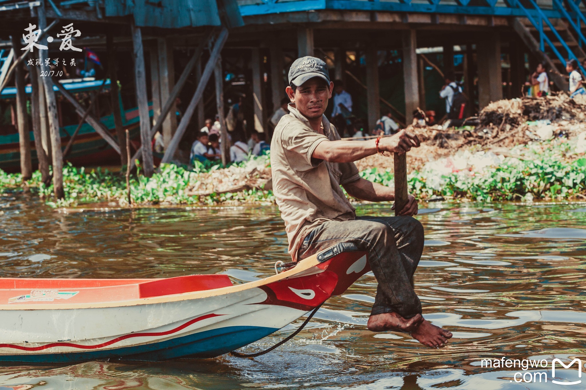
[[312, 157], [331, 163], [352, 163], [376, 154], [376, 140], [367, 141], [323, 141], [315, 148]]

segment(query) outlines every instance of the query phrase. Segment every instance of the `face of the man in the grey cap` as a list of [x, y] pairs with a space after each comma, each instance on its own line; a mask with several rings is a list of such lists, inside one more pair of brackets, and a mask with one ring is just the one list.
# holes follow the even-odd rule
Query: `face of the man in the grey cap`
[[328, 100], [332, 97], [333, 82], [328, 85], [319, 77], [314, 77], [297, 87], [295, 91], [287, 87], [289, 99], [295, 107], [308, 119], [321, 118], [328, 108]]

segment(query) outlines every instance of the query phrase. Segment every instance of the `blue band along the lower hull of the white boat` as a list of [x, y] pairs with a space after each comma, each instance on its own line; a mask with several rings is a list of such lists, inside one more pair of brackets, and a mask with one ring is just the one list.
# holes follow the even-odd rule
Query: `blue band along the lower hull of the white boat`
[[110, 350], [49, 354], [0, 355], [0, 361], [27, 363], [74, 363], [77, 361], [118, 359], [161, 361], [175, 358], [210, 358], [246, 346], [278, 329], [262, 326], [228, 326], [176, 337], [159, 343], [141, 344]]

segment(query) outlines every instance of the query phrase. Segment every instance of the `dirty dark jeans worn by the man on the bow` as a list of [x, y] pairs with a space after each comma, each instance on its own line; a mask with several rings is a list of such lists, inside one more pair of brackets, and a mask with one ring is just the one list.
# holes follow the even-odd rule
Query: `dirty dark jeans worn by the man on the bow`
[[396, 312], [410, 318], [421, 314], [411, 278], [423, 253], [423, 241], [423, 226], [413, 217], [357, 217], [322, 223], [305, 236], [297, 255], [302, 260], [338, 243], [355, 243], [368, 253], [379, 282], [370, 315]]

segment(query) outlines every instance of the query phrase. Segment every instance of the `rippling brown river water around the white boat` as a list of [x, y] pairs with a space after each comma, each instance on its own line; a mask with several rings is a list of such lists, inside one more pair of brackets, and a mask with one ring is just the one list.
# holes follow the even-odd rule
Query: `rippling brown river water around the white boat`
[[[423, 347], [407, 334], [369, 332], [376, 280], [366, 274], [329, 299], [294, 340], [254, 360], [4, 365], [0, 389], [586, 388], [586, 376], [580, 385], [553, 384], [550, 366], [481, 364], [502, 357], [586, 363], [586, 204], [420, 208], [426, 242], [415, 288], [424, 316], [454, 332], [445, 348]], [[357, 213], [392, 211], [359, 205]], [[242, 283], [274, 273], [275, 261], [288, 260], [286, 251], [272, 205], [58, 213], [32, 196], [0, 196], [0, 277], [224, 273]], [[301, 322], [244, 350], [271, 346]], [[557, 367], [558, 381], [580, 380], [576, 364]], [[517, 371], [531, 382], [513, 381]], [[547, 372], [548, 382], [533, 382], [536, 372]]]

